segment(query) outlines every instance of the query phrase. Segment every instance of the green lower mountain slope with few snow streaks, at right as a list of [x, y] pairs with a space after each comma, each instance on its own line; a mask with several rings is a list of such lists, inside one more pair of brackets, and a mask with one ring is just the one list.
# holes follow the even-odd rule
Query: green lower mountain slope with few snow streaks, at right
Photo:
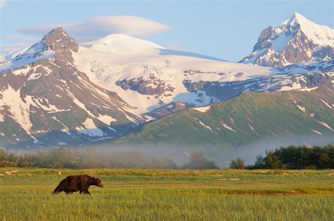
[[256, 149], [260, 140], [266, 141], [261, 144], [265, 149], [277, 147], [275, 140], [296, 142], [303, 136], [302, 142], [333, 142], [333, 113], [333, 83], [309, 91], [244, 92], [228, 101], [171, 113], [107, 145], [204, 149], [210, 156], [229, 158], [248, 144]]

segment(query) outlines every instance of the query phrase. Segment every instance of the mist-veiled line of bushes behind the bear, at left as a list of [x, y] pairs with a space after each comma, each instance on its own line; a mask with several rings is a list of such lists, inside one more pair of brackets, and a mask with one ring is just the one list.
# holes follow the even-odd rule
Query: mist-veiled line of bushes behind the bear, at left
[[0, 167], [18, 168], [168, 168], [176, 169], [169, 158], [146, 156], [139, 151], [107, 152], [94, 149], [65, 149], [14, 154], [0, 151]]

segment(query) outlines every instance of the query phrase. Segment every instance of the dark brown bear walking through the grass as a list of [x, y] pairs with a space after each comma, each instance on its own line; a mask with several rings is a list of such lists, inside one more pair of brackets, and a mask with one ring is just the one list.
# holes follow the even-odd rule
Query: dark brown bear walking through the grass
[[72, 194], [73, 192], [80, 191], [80, 194], [90, 195], [88, 191], [90, 185], [103, 187], [100, 179], [89, 177], [89, 175], [68, 176], [60, 182], [52, 194], [59, 194], [61, 191], [64, 191], [66, 194]]

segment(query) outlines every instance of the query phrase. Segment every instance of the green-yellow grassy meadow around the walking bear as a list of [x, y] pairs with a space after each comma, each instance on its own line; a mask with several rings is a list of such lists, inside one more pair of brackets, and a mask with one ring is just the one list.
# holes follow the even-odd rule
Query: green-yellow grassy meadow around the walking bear
[[[16, 175], [3, 175], [18, 170]], [[334, 170], [0, 168], [0, 220], [332, 220]], [[67, 175], [91, 196], [51, 195]]]

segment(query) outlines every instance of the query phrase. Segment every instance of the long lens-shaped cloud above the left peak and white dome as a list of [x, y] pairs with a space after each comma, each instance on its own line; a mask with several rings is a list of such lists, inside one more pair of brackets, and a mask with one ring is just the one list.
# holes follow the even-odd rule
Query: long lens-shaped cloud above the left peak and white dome
[[[1, 0], [0, 0], [1, 1]], [[63, 23], [36, 27], [25, 27], [18, 30], [22, 34], [46, 34], [54, 27], [63, 27], [73, 37], [101, 37], [108, 34], [128, 34], [140, 37], [156, 34], [169, 29], [168, 25], [146, 18], [134, 16], [104, 16], [89, 18], [83, 23]]]

